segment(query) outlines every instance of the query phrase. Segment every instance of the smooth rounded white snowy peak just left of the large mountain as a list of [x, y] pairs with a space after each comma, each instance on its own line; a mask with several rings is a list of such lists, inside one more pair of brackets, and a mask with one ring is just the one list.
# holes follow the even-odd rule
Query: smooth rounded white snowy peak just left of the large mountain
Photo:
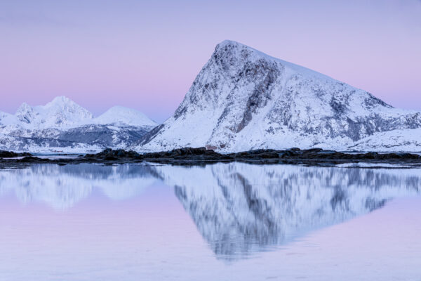
[[149, 119], [138, 110], [122, 106], [111, 107], [107, 112], [95, 118], [97, 124], [127, 124], [129, 126], [156, 126], [156, 122]]

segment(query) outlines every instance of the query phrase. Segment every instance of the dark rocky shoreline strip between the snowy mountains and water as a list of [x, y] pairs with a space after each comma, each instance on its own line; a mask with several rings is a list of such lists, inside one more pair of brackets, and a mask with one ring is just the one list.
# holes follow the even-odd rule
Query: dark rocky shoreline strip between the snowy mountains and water
[[[6, 158], [6, 159], [5, 159]], [[30, 164], [123, 164], [153, 162], [175, 165], [203, 165], [216, 162], [243, 162], [250, 164], [303, 164], [308, 166], [335, 166], [345, 163], [410, 164], [421, 166], [421, 155], [411, 153], [345, 153], [319, 148], [300, 150], [250, 150], [221, 154], [206, 148], [180, 148], [163, 152], [140, 154], [135, 151], [106, 149], [97, 154], [79, 155], [74, 158], [40, 158], [27, 152], [0, 151], [0, 169], [19, 168]]]

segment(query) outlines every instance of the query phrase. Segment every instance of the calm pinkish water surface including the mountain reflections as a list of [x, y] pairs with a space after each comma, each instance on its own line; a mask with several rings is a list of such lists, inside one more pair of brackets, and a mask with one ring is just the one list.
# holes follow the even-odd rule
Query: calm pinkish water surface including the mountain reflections
[[0, 170], [0, 280], [421, 280], [420, 188], [420, 169]]

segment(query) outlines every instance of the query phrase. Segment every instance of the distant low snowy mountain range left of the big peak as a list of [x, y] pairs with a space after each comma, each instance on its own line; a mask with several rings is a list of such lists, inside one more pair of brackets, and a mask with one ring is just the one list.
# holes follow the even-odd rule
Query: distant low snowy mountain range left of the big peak
[[15, 115], [0, 112], [0, 149], [48, 152], [126, 148], [157, 124], [137, 110], [112, 107], [99, 117], [69, 98], [46, 105], [22, 104]]

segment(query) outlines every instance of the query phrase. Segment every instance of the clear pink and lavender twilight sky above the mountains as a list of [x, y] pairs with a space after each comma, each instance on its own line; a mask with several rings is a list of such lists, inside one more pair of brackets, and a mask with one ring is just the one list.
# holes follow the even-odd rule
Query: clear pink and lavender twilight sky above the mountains
[[172, 115], [224, 39], [421, 110], [421, 1], [0, 1], [0, 110]]

